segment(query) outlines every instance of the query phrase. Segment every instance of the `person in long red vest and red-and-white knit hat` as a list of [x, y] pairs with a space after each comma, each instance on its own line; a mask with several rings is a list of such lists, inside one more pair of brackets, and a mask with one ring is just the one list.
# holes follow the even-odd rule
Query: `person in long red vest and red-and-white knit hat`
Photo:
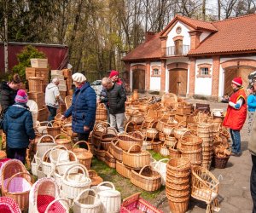
[[223, 125], [230, 128], [232, 139], [232, 155], [241, 155], [240, 130], [247, 118], [247, 95], [243, 89], [240, 77], [234, 78], [231, 87], [234, 93], [230, 96], [227, 113]]

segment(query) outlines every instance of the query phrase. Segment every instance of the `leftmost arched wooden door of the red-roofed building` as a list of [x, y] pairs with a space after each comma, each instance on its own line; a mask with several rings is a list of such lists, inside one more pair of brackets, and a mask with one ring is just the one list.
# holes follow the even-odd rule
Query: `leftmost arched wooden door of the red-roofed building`
[[144, 65], [131, 66], [132, 89], [138, 89], [139, 92], [145, 91], [145, 70]]

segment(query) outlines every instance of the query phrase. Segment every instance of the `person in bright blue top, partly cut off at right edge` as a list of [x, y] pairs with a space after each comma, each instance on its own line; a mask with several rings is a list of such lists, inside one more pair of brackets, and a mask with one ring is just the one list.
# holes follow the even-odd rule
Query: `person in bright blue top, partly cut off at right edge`
[[248, 135], [251, 134], [253, 125], [253, 115], [256, 111], [256, 82], [253, 83], [252, 88], [247, 89], [249, 95], [247, 96], [248, 107]]

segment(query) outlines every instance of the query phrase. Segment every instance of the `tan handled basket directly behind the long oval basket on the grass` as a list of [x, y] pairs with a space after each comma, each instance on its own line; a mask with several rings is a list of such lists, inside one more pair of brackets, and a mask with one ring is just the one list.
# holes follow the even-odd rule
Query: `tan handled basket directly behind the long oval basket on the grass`
[[134, 169], [141, 169], [143, 166], [150, 164], [151, 154], [148, 151], [140, 151], [137, 153], [131, 153], [132, 147], [141, 147], [137, 144], [132, 145], [127, 152], [123, 152], [123, 164]]

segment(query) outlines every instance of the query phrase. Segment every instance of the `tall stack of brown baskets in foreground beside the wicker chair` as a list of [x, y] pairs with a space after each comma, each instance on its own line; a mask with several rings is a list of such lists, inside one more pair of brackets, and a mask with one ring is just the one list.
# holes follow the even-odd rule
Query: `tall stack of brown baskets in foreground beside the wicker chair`
[[167, 163], [166, 196], [172, 212], [184, 213], [189, 206], [189, 158], [171, 158]]

